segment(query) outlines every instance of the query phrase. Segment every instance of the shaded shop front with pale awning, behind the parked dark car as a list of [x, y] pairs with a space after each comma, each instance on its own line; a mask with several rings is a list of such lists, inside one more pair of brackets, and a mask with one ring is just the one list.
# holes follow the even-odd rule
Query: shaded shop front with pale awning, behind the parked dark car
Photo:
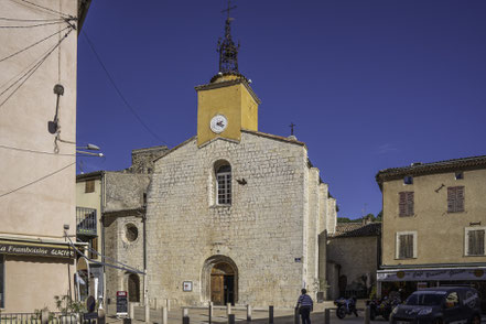
[[486, 313], [486, 264], [478, 267], [385, 269], [377, 271], [377, 293], [400, 292], [402, 299], [415, 290], [440, 285], [467, 285], [479, 293], [482, 310]]

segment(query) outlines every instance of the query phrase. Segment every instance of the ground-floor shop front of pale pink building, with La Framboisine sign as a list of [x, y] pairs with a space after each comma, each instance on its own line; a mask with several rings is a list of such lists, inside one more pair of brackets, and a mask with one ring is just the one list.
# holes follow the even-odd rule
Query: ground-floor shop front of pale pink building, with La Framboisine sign
[[0, 238], [0, 310], [55, 311], [56, 295], [72, 293], [75, 251], [64, 241]]

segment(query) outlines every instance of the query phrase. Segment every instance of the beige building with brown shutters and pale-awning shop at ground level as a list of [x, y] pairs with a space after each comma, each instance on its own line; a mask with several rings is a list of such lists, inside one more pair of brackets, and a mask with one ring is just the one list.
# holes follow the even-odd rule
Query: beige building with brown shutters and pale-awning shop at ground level
[[381, 291], [472, 284], [486, 300], [486, 156], [378, 172]]

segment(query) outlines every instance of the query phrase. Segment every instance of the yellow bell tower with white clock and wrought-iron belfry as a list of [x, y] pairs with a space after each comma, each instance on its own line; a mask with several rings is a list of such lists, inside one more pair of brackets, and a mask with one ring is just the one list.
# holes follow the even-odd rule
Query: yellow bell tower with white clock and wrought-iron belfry
[[238, 69], [238, 45], [231, 37], [228, 0], [225, 36], [219, 39], [219, 72], [209, 84], [197, 86], [197, 145], [215, 138], [240, 141], [241, 129], [258, 131], [258, 105], [261, 102], [250, 82]]

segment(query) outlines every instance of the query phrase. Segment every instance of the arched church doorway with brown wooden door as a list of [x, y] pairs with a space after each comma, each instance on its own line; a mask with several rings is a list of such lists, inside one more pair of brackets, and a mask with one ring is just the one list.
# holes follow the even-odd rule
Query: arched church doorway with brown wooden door
[[238, 268], [224, 256], [206, 260], [203, 268], [203, 293], [215, 305], [235, 304], [238, 301]]

